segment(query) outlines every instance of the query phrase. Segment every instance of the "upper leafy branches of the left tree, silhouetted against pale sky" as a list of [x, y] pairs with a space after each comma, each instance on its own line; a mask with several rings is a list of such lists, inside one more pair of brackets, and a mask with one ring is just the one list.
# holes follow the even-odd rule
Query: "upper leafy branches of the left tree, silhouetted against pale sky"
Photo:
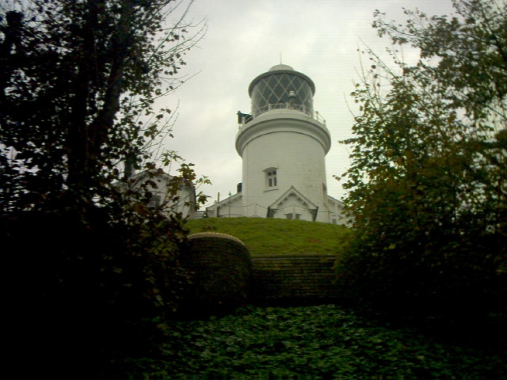
[[191, 29], [183, 17], [166, 26], [182, 12], [172, 4], [53, 0], [4, 10], [0, 143], [12, 182], [1, 193], [6, 210], [37, 208], [63, 191], [89, 203], [118, 178], [119, 162], [134, 157], [139, 167], [148, 158], [146, 140], [170, 112], [156, 112], [154, 100], [179, 85], [174, 75], [183, 55], [204, 30], [186, 39]]

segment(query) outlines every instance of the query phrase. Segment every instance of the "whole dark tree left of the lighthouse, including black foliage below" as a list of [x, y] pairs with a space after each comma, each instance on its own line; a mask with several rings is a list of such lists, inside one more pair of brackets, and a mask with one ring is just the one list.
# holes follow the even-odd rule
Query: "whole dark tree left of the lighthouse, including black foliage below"
[[[112, 355], [143, 355], [184, 295], [182, 218], [149, 212], [148, 189], [122, 194], [117, 183], [125, 162], [157, 171], [148, 147], [170, 133], [170, 110], [155, 100], [182, 83], [183, 56], [205, 31], [186, 23], [191, 4], [0, 5], [0, 224], [16, 247], [6, 302], [13, 351], [31, 341], [52, 377], [64, 368], [54, 357], [74, 364], [67, 378], [95, 378], [84, 371]], [[174, 178], [172, 188], [198, 181], [192, 164]]]

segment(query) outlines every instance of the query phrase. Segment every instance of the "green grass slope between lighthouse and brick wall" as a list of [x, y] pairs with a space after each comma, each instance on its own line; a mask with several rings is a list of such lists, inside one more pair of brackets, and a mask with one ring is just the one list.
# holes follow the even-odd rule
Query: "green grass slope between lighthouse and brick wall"
[[340, 254], [350, 236], [343, 225], [273, 218], [206, 218], [189, 220], [187, 227], [191, 234], [232, 235], [251, 255]]

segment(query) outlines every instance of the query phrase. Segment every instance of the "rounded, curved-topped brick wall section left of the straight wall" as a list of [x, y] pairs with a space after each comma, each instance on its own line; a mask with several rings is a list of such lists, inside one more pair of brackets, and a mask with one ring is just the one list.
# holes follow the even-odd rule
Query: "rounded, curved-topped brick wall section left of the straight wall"
[[226, 234], [189, 236], [186, 260], [194, 272], [189, 308], [205, 314], [245, 305], [251, 283], [251, 260], [241, 240]]

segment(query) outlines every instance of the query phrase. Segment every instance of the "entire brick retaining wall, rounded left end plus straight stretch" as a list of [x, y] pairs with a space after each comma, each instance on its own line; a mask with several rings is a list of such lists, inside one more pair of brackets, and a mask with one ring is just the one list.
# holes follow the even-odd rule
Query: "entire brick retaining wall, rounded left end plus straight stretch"
[[237, 238], [219, 233], [189, 236], [195, 272], [193, 303], [200, 309], [251, 303], [319, 302], [337, 297], [335, 255], [250, 256]]

